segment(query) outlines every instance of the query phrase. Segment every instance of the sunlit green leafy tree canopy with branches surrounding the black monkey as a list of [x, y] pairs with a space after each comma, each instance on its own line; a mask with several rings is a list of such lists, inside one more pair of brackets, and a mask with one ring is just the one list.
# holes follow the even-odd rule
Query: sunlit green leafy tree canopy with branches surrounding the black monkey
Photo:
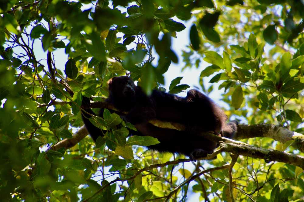
[[[1, 200], [303, 201], [303, 18], [302, 0], [0, 1]], [[164, 89], [171, 63], [182, 71]], [[191, 162], [147, 151], [157, 139], [128, 137], [134, 126], [107, 110], [92, 118], [105, 136], [87, 136], [82, 96], [111, 109], [119, 75], [177, 94], [188, 68], [222, 93], [242, 142], [201, 134], [222, 141], [217, 158]]]

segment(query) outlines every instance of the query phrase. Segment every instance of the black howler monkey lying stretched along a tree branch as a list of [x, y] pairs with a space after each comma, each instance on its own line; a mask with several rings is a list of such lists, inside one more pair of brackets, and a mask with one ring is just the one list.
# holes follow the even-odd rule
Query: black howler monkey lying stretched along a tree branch
[[[147, 96], [127, 76], [113, 77], [108, 84], [110, 94], [106, 102], [120, 111], [128, 112], [124, 119], [136, 127], [136, 135], [149, 135], [160, 142], [148, 146], [149, 149], [180, 153], [197, 159], [211, 154], [217, 146], [216, 142], [199, 136], [200, 132], [208, 131], [233, 138], [237, 130], [237, 122], [226, 124], [224, 112], [197, 90], [188, 91], [185, 98], [157, 90]], [[91, 109], [85, 111], [94, 114]], [[103, 110], [99, 116], [102, 116], [102, 112]], [[82, 117], [88, 132], [96, 141], [102, 131], [88, 120], [90, 115], [84, 112]], [[186, 126], [186, 130], [159, 128], [148, 122], [151, 119], [181, 123]]]

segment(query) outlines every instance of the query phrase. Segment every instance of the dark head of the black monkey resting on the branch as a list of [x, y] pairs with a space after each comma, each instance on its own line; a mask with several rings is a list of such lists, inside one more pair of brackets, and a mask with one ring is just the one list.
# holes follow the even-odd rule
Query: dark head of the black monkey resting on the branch
[[127, 76], [113, 77], [108, 81], [110, 94], [115, 98], [134, 97], [137, 86], [133, 80]]

